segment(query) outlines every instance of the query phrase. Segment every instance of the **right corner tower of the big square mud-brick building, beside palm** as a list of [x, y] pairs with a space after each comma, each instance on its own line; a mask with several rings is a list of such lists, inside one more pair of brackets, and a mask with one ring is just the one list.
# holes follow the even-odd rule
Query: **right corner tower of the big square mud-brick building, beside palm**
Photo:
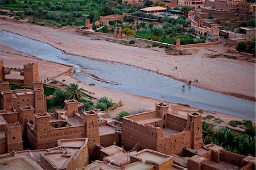
[[196, 150], [203, 146], [203, 126], [200, 113], [189, 113], [188, 121], [190, 122], [190, 131], [191, 131], [191, 142], [192, 149]]

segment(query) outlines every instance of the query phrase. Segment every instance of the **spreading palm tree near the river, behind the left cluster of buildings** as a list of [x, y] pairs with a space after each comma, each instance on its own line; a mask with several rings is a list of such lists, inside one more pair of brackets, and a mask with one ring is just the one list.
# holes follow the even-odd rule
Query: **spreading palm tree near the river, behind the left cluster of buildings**
[[77, 101], [80, 101], [84, 96], [82, 91], [85, 91], [85, 89], [79, 88], [78, 84], [69, 84], [69, 86], [66, 88], [67, 99], [76, 99]]

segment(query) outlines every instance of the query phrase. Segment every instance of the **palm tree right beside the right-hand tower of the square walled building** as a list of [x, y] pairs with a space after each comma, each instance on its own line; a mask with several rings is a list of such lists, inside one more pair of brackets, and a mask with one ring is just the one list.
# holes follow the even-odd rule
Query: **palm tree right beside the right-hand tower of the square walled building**
[[214, 142], [216, 134], [216, 126], [212, 126], [207, 122], [203, 122], [203, 142], [209, 144]]

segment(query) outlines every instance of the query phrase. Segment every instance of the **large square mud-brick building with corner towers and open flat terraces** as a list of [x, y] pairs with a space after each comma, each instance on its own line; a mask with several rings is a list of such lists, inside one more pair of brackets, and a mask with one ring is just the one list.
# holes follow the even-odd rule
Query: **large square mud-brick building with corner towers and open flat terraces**
[[170, 114], [168, 105], [160, 103], [155, 111], [123, 118], [122, 146], [131, 150], [135, 145], [164, 154], [179, 154], [184, 147], [203, 146], [200, 113], [189, 113], [188, 119]]

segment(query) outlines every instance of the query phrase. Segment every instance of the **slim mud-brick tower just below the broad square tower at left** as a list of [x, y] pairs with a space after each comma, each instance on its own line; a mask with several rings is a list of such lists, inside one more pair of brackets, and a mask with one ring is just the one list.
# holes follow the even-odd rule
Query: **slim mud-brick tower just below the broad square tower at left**
[[35, 92], [35, 112], [44, 113], [46, 112], [46, 99], [44, 98], [43, 88], [34, 88]]

